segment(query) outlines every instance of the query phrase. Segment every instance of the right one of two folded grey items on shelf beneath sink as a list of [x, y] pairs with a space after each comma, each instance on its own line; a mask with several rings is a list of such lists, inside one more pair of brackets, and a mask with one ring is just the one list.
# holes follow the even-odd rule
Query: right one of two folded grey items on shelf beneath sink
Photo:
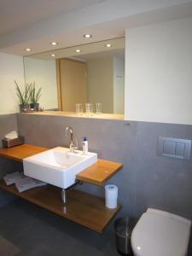
[[45, 186], [46, 184], [47, 183], [44, 183], [44, 182], [34, 179], [32, 177], [20, 177], [15, 182], [15, 186], [20, 193], [24, 192], [28, 189]]

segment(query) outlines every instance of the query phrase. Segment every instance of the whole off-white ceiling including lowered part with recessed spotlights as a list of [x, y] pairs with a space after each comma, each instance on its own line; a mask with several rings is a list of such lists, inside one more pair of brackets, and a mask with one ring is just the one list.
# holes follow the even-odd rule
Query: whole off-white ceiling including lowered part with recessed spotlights
[[[192, 17], [192, 0], [0, 0], [0, 51], [32, 55], [183, 17]], [[93, 37], [87, 40], [85, 33]]]

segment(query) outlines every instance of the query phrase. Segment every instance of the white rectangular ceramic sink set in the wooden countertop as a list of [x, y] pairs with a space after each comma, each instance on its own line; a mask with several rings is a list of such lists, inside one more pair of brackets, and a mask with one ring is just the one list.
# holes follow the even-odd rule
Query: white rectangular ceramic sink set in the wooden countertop
[[67, 189], [75, 183], [76, 174], [95, 164], [97, 154], [69, 148], [52, 148], [43, 153], [34, 154], [23, 160], [24, 174]]

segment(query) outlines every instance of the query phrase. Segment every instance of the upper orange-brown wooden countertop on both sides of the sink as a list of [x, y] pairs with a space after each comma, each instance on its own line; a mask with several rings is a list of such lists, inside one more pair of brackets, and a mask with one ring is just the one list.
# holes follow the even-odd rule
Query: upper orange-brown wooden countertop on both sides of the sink
[[[42, 148], [31, 144], [22, 144], [13, 148], [0, 148], [0, 156], [22, 162], [22, 160], [33, 154], [38, 154], [49, 148]], [[98, 159], [96, 164], [79, 172], [77, 179], [85, 183], [102, 186], [110, 177], [123, 167], [122, 164], [113, 161]]]

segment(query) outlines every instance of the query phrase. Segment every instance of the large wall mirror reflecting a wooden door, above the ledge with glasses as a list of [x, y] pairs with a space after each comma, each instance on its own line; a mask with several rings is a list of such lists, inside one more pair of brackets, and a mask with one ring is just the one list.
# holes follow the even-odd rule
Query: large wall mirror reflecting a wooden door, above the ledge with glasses
[[102, 103], [102, 113], [124, 113], [125, 38], [24, 57], [26, 83], [42, 87], [46, 110], [74, 112], [76, 103]]

